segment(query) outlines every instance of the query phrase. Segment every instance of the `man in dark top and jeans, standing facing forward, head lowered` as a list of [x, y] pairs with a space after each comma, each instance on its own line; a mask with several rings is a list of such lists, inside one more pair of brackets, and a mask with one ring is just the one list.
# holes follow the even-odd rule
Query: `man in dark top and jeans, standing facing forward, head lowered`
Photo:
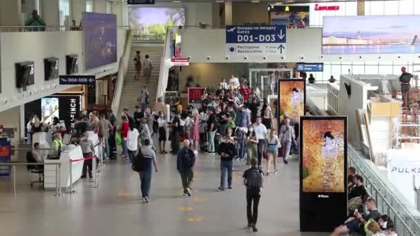
[[[229, 135], [223, 135], [222, 144], [219, 146], [220, 150], [220, 187], [219, 190], [225, 190], [226, 179], [227, 188], [232, 189], [232, 170], [233, 157], [235, 157], [235, 144], [231, 141]], [[226, 177], [227, 172], [227, 177]]]

